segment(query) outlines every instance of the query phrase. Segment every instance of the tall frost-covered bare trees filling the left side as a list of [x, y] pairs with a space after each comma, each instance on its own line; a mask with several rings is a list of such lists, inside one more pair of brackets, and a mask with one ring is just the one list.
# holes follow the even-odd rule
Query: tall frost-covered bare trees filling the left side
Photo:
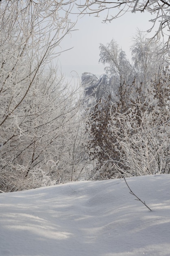
[[69, 2], [0, 1], [0, 190], [77, 179], [82, 173], [76, 89], [52, 62], [74, 24]]

